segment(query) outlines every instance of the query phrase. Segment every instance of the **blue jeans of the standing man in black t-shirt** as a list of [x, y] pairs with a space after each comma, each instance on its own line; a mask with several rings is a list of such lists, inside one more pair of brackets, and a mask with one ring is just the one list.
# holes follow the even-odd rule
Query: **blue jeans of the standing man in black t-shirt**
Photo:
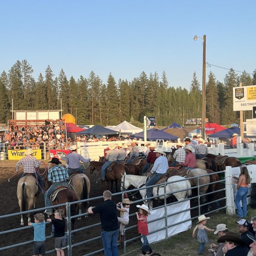
[[104, 231], [102, 230], [101, 237], [103, 247], [105, 250], [105, 256], [118, 256], [117, 239], [119, 229], [115, 231]]

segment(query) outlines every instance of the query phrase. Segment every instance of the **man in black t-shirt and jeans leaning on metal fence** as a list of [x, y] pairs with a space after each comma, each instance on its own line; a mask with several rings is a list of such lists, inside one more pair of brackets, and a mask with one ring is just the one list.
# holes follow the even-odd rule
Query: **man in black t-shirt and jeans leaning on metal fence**
[[116, 215], [116, 203], [111, 200], [112, 193], [109, 190], [103, 192], [104, 203], [96, 207], [89, 207], [88, 213], [98, 213], [102, 225], [102, 242], [105, 256], [118, 256], [117, 239], [119, 225]]

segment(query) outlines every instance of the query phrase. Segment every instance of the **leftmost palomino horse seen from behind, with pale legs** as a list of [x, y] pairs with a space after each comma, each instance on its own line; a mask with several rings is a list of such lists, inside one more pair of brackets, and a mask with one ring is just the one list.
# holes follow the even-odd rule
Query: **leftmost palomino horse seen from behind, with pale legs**
[[[38, 185], [35, 182], [33, 175], [26, 175], [18, 181], [17, 185], [17, 198], [19, 201], [20, 212], [26, 210], [26, 201], [28, 204], [28, 210], [31, 209], [32, 205], [36, 205], [38, 196]], [[30, 213], [28, 213], [28, 222], [30, 222]], [[21, 215], [20, 225], [24, 225], [23, 214]]]

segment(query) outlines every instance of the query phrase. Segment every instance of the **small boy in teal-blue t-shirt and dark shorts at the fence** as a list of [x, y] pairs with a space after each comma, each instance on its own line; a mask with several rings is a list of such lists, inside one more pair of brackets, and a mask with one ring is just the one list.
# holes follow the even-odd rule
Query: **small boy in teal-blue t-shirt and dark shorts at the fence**
[[45, 255], [45, 221], [44, 214], [37, 213], [34, 215], [35, 223], [29, 222], [29, 226], [34, 227], [34, 256]]

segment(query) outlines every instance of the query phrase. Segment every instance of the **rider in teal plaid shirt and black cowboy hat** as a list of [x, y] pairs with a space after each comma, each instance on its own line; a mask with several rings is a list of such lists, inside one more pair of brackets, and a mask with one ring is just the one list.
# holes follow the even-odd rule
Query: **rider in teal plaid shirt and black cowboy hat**
[[[58, 166], [61, 162], [56, 157], [52, 157], [52, 160], [48, 163], [52, 163], [52, 167], [49, 169], [47, 179], [52, 182], [52, 186], [49, 187], [44, 194], [45, 207], [51, 206], [50, 196], [59, 186], [66, 186], [68, 188], [68, 174], [67, 170], [63, 166]], [[52, 209], [45, 211], [47, 214], [52, 214]]]

